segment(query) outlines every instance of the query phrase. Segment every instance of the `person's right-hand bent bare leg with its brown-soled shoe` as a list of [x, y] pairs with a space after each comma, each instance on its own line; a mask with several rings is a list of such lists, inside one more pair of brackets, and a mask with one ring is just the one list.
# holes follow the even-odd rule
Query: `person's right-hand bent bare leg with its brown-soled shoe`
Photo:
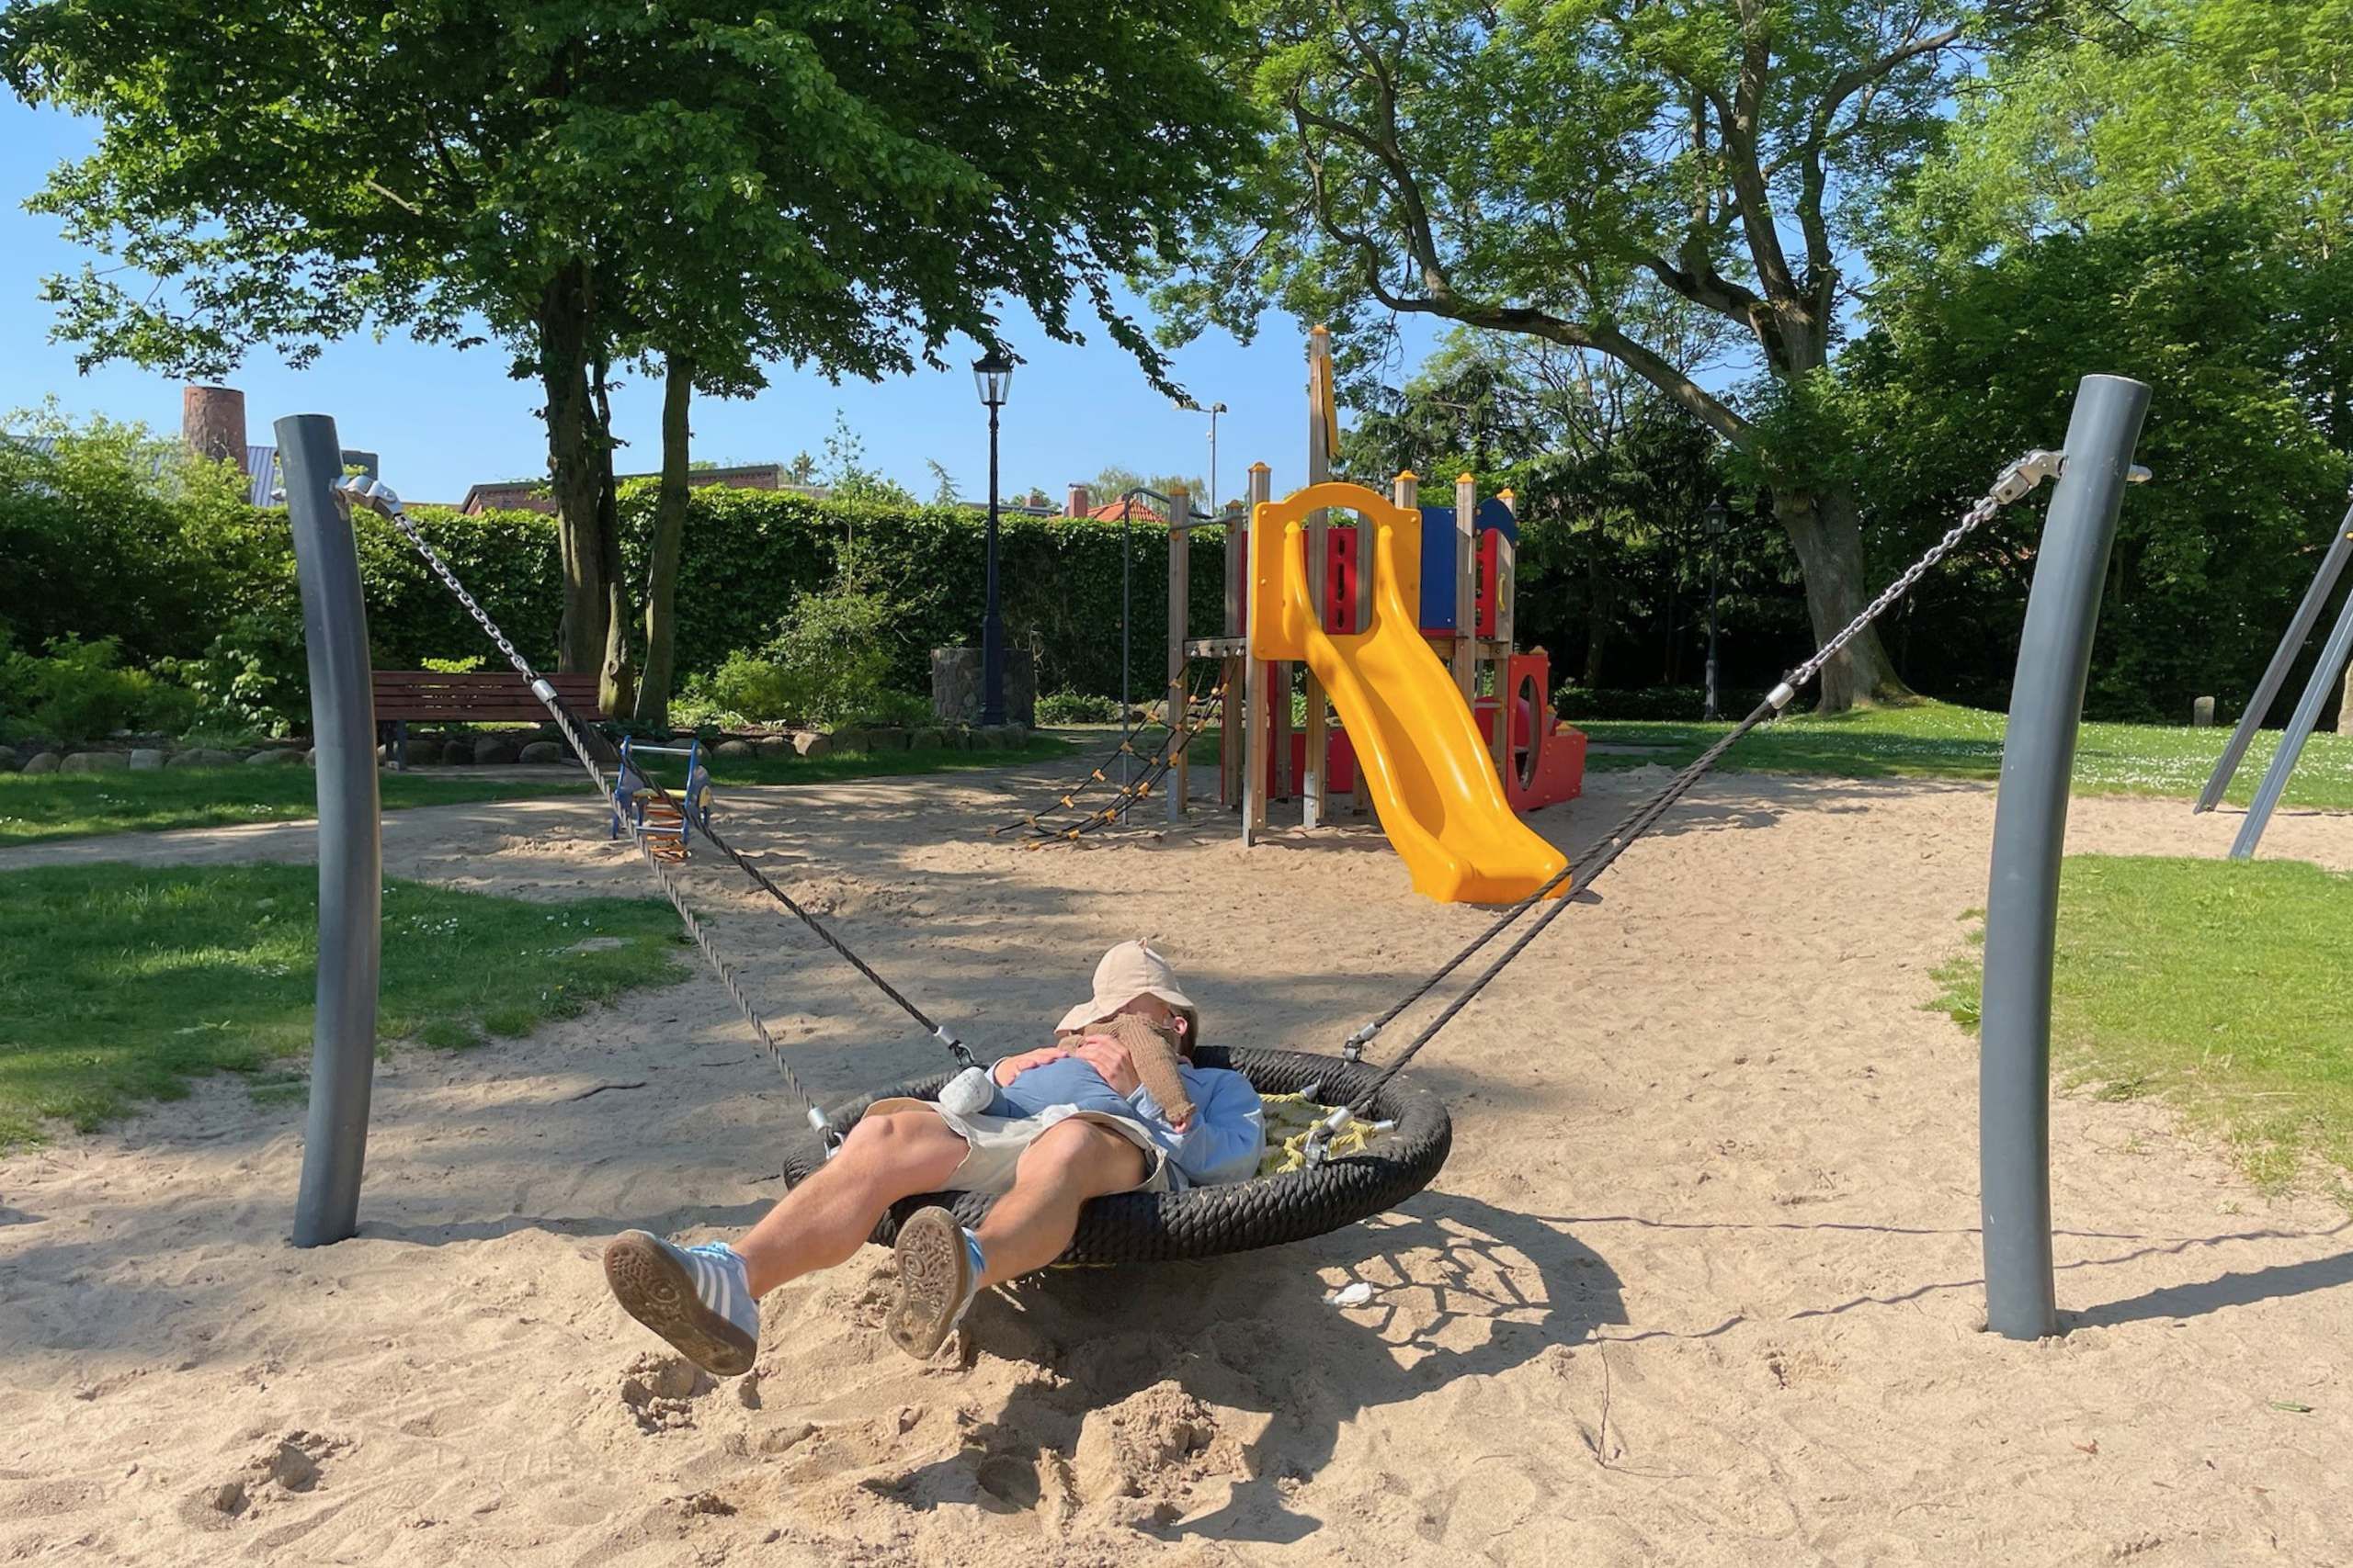
[[979, 1258], [946, 1208], [925, 1208], [899, 1227], [899, 1298], [882, 1319], [885, 1333], [911, 1356], [929, 1359], [981, 1286], [1054, 1262], [1078, 1234], [1080, 1206], [1127, 1192], [1144, 1171], [1144, 1150], [1108, 1128], [1080, 1119], [1049, 1126], [1021, 1152], [1012, 1190], [981, 1220]]

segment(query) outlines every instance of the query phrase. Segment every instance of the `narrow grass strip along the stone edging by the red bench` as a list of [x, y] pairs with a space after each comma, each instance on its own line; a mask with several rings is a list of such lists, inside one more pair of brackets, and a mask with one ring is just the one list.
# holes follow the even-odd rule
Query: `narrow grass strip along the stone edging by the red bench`
[[[833, 783], [896, 773], [944, 773], [993, 769], [1068, 755], [1054, 736], [1033, 736], [1005, 752], [854, 752], [845, 757], [722, 757], [713, 778], [727, 785]], [[678, 783], [675, 778], [671, 783]], [[379, 773], [386, 811], [400, 806], [459, 806], [482, 799], [588, 792], [574, 766], [513, 773], [506, 778], [459, 778], [419, 769]], [[318, 780], [311, 769], [162, 769], [153, 773], [0, 773], [0, 849], [78, 839], [99, 832], [153, 832], [162, 827], [221, 827], [226, 823], [282, 823], [318, 813]]]

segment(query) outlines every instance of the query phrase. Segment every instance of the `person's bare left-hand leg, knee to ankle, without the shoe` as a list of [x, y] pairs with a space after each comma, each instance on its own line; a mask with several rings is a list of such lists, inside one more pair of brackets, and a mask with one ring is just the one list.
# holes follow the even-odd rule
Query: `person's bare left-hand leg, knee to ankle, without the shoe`
[[882, 1211], [918, 1192], [939, 1192], [965, 1164], [965, 1135], [927, 1110], [861, 1117], [842, 1152], [776, 1199], [734, 1241], [753, 1295], [847, 1262]]

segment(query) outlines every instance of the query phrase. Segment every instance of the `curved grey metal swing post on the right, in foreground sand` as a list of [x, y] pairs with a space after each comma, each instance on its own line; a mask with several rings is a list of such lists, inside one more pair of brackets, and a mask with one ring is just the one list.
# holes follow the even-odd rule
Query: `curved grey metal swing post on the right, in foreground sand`
[[2108, 545], [2125, 501], [2148, 388], [2085, 376], [2066, 430], [2026, 597], [2009, 733], [1993, 809], [1986, 990], [1977, 1065], [1977, 1161], [1986, 1237], [1986, 1328], [2012, 1340], [2059, 1331], [2052, 1279], [2049, 1046], [2059, 856], [2082, 686], [2099, 630]]

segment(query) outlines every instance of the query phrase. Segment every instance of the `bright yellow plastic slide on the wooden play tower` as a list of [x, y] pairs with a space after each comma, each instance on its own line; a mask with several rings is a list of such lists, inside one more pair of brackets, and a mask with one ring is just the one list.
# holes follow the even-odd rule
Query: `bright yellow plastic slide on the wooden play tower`
[[[1346, 510], [1377, 529], [1372, 628], [1329, 635], [1306, 578], [1306, 515]], [[1400, 541], [1412, 541], [1405, 559]], [[1567, 865], [1504, 799], [1487, 741], [1454, 677], [1421, 637], [1421, 517], [1362, 484], [1311, 484], [1266, 501], [1249, 524], [1249, 656], [1304, 658], [1339, 710], [1381, 827], [1440, 903], [1527, 898]]]

